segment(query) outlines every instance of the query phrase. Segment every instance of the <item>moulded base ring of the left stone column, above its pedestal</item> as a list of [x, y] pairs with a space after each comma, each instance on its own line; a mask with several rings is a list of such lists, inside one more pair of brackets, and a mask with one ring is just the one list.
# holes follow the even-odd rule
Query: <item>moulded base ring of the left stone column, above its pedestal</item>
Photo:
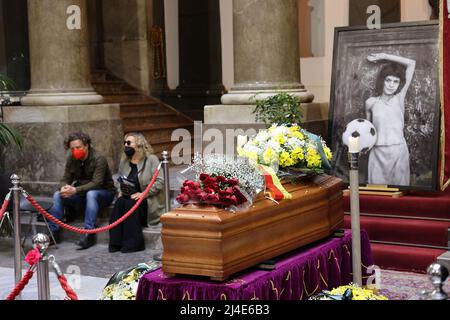
[[61, 105], [86, 105], [99, 104], [103, 97], [95, 91], [86, 92], [30, 92], [21, 99], [23, 106], [61, 106]]

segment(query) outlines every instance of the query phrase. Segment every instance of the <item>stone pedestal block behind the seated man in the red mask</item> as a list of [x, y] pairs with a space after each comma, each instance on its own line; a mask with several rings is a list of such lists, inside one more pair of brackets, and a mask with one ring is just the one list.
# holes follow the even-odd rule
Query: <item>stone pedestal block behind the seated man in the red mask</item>
[[[95, 108], [95, 110], [94, 110]], [[117, 105], [6, 107], [5, 122], [23, 136], [22, 151], [3, 150], [1, 171], [17, 173], [33, 195], [51, 195], [64, 173], [68, 134], [83, 131], [117, 172], [122, 152], [122, 124]]]

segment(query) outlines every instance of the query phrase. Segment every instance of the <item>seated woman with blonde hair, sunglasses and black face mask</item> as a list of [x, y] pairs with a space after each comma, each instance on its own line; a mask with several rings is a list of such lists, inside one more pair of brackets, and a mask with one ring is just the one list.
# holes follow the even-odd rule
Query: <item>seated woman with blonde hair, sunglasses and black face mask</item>
[[[119, 164], [118, 199], [110, 223], [120, 219], [143, 196], [156, 168], [158, 158], [142, 133], [128, 133], [124, 138], [124, 155]], [[164, 178], [159, 172], [146, 200], [128, 219], [109, 231], [109, 252], [135, 252], [145, 249], [142, 228], [157, 225], [164, 212]]]

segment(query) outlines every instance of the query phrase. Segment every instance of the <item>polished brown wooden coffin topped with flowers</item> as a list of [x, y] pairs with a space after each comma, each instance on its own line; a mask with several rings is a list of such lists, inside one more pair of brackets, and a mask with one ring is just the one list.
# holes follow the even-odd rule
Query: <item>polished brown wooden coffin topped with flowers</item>
[[284, 183], [284, 187], [292, 200], [279, 205], [261, 195], [243, 212], [191, 204], [163, 214], [163, 271], [223, 281], [326, 238], [343, 225], [340, 179], [316, 176], [301, 184]]

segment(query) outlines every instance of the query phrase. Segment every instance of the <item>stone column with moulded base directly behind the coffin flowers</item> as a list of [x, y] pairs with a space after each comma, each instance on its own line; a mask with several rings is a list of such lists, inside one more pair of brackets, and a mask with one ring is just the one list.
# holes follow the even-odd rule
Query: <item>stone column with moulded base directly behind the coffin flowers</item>
[[233, 0], [235, 85], [225, 105], [285, 91], [311, 102], [300, 82], [297, 0]]

